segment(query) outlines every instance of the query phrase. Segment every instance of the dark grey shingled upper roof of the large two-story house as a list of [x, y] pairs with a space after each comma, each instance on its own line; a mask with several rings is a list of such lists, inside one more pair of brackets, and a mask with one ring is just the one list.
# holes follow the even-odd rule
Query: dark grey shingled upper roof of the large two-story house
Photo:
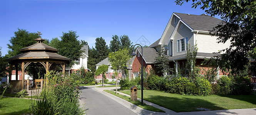
[[218, 26], [222, 22], [218, 18], [214, 18], [212, 16], [208, 16], [205, 14], [202, 15], [191, 15], [185, 13], [176, 13], [182, 21], [184, 21], [188, 26], [190, 26], [193, 30], [202, 30], [209, 31], [212, 30], [213, 27]]

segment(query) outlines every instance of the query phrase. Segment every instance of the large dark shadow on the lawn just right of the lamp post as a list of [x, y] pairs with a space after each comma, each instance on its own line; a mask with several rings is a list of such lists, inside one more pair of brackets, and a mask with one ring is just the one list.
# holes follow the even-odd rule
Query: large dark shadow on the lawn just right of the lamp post
[[225, 108], [218, 107], [216, 104], [202, 99], [192, 99], [186, 97], [166, 97], [160, 95], [148, 95], [144, 98], [149, 102], [168, 108], [175, 112], [195, 112], [200, 111], [197, 108], [208, 108], [210, 110], [224, 110]]

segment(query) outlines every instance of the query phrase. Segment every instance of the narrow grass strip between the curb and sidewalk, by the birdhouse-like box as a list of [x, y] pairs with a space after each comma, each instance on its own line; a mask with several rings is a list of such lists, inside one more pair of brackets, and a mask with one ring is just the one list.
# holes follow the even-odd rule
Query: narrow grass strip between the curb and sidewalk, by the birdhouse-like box
[[130, 97], [127, 97], [127, 96], [124, 96], [124, 95], [121, 95], [121, 94], [118, 94], [118, 93], [115, 94], [115, 92], [113, 92], [113, 91], [110, 91], [110, 90], [104, 90], [104, 91], [108, 92], [108, 93], [110, 93], [112, 95], [115, 95], [117, 97], [120, 97], [120, 98], [122, 98], [124, 100], [127, 100], [128, 102], [131, 102], [132, 104], [137, 105], [137, 106], [139, 106], [139, 107], [141, 107], [143, 109], [150, 110], [150, 111], [153, 111], [153, 112], [164, 112], [163, 110], [160, 110], [160, 109], [158, 109], [156, 107], [149, 106], [149, 105], [147, 105], [145, 103], [143, 105], [141, 105], [140, 101], [132, 101]]

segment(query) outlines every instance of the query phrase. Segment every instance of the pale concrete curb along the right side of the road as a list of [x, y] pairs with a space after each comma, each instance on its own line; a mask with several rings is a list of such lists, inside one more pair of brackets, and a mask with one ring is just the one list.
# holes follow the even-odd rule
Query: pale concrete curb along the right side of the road
[[161, 113], [161, 112], [152, 112], [152, 111], [149, 111], [149, 110], [145, 110], [137, 105], [134, 105], [124, 99], [121, 99], [120, 97], [117, 97], [115, 95], [112, 95], [112, 94], [109, 94], [108, 92], [105, 92], [105, 91], [99, 91], [95, 88], [92, 88], [93, 90], [97, 91], [97, 92], [100, 92], [101, 94], [104, 94], [108, 97], [110, 97], [111, 99], [115, 100], [116, 102], [118, 102], [119, 104], [122, 104], [126, 107], [128, 107], [130, 110], [134, 111], [136, 110], [135, 113], [139, 114], [139, 115], [168, 115], [166, 113]]

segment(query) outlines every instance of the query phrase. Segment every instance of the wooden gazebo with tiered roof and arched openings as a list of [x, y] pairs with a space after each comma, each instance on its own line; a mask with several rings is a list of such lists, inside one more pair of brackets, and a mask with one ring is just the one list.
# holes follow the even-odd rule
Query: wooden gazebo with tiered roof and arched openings
[[[58, 49], [44, 44], [44, 39], [40, 38], [40, 32], [38, 32], [38, 35], [39, 38], [35, 39], [37, 43], [20, 49], [19, 51], [22, 52], [22, 54], [8, 58], [8, 61], [10, 61], [10, 70], [12, 70], [12, 66], [15, 66], [16, 69], [16, 80], [11, 80], [12, 72], [9, 72], [9, 84], [12, 84], [13, 87], [17, 88], [18, 90], [25, 89], [25, 69], [31, 63], [42, 64], [45, 67], [46, 74], [52, 64], [60, 64], [62, 66], [62, 73], [65, 74], [65, 64], [67, 61], [69, 61], [69, 58], [57, 54]], [[18, 64], [22, 69], [22, 80], [18, 80]], [[35, 76], [33, 76], [33, 80], [35, 80]]]

